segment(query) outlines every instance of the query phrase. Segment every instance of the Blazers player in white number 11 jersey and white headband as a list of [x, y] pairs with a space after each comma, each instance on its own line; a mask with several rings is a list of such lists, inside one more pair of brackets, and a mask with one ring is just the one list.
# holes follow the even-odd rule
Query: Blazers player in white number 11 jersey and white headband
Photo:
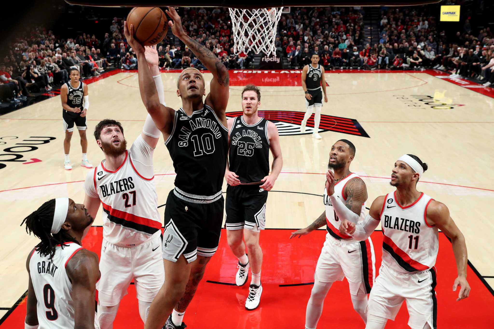
[[450, 211], [416, 184], [427, 164], [413, 154], [404, 154], [394, 165], [391, 182], [396, 191], [377, 197], [366, 219], [358, 224], [342, 220], [341, 234], [356, 240], [367, 239], [381, 222], [382, 265], [369, 296], [367, 329], [383, 329], [394, 320], [404, 300], [412, 329], [436, 329], [436, 263], [439, 249], [438, 229], [451, 239], [458, 277], [454, 280], [460, 300], [468, 297], [466, 281], [467, 251], [465, 238]]

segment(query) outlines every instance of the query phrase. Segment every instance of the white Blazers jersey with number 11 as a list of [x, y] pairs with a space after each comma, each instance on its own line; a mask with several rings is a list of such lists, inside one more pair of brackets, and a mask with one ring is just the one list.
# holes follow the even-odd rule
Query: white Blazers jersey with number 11
[[424, 271], [436, 263], [438, 229], [429, 226], [426, 219], [432, 200], [421, 193], [410, 206], [402, 207], [396, 200], [396, 191], [386, 195], [379, 217], [384, 234], [382, 262], [395, 271]]

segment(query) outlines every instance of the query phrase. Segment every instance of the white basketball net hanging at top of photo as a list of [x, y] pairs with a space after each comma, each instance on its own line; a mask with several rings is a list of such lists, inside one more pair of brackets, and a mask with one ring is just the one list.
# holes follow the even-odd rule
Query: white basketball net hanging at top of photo
[[228, 8], [232, 19], [232, 32], [236, 55], [253, 50], [276, 56], [276, 27], [283, 7], [261, 9]]

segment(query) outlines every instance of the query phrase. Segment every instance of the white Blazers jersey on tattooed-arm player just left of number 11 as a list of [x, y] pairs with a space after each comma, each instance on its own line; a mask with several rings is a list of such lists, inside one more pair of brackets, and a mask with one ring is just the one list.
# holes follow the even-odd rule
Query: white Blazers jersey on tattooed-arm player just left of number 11
[[[351, 173], [346, 178], [341, 181], [338, 181], [334, 184], [334, 195], [336, 195], [339, 199], [346, 201], [346, 197], [343, 195], [343, 191], [345, 189], [346, 183], [353, 179], [361, 179], [357, 174]], [[323, 192], [323, 202], [326, 206], [326, 224], [328, 225], [326, 229], [328, 233], [335, 239], [352, 239], [351, 236], [346, 234], [341, 234], [338, 227], [340, 224], [340, 219], [336, 216], [336, 212], [333, 209], [331, 204], [331, 199], [329, 199], [328, 192], [326, 191], [326, 187]], [[362, 221], [366, 217], [366, 207], [365, 204], [362, 204], [362, 209], [360, 210], [359, 222]]]

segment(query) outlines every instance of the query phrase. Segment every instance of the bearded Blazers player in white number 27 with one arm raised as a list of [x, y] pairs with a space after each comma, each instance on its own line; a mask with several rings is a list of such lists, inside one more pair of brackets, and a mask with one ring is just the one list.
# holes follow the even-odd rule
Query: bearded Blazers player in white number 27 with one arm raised
[[[153, 71], [150, 88], [165, 104], [158, 53], [152, 47], [140, 54], [142, 63]], [[161, 257], [161, 220], [154, 183], [153, 153], [160, 131], [148, 114], [142, 132], [126, 149], [120, 122], [106, 119], [94, 129], [96, 143], [105, 159], [90, 171], [84, 183], [84, 205], [94, 218], [103, 208], [103, 244], [98, 281], [98, 320], [101, 329], [113, 328], [120, 300], [133, 280], [139, 315], [143, 322], [164, 282]]]

